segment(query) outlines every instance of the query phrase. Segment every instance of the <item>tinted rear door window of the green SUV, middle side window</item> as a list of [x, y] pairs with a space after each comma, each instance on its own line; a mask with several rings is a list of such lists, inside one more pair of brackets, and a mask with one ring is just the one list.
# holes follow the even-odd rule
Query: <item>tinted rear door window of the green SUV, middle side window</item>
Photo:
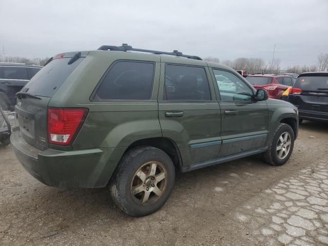
[[166, 65], [166, 100], [211, 100], [209, 82], [204, 68]]

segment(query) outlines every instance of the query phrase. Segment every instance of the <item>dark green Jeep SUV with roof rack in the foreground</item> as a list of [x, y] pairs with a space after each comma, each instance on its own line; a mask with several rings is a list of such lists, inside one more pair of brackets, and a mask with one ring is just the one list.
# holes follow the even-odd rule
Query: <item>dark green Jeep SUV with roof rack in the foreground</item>
[[283, 165], [298, 132], [292, 104], [235, 70], [126, 44], [56, 55], [17, 98], [11, 143], [23, 167], [48, 186], [109, 186], [132, 216], [165, 203], [176, 171], [260, 153]]

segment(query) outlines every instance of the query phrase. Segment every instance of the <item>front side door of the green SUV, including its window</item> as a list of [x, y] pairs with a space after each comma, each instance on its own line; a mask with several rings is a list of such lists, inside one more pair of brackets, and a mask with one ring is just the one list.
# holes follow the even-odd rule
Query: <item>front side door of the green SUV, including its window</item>
[[220, 95], [222, 147], [219, 156], [265, 146], [268, 135], [268, 106], [254, 101], [254, 90], [231, 71], [212, 69]]

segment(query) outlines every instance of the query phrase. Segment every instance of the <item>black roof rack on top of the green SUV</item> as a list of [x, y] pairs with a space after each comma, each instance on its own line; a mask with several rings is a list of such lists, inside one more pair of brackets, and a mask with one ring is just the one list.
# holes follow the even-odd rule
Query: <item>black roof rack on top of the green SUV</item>
[[165, 51], [157, 51], [157, 50], [144, 50], [144, 49], [136, 49], [132, 48], [132, 46], [128, 44], [122, 44], [122, 46], [111, 46], [111, 45], [103, 45], [98, 48], [98, 50], [113, 50], [113, 51], [138, 51], [138, 52], [147, 52], [147, 53], [153, 53], [156, 55], [175, 55], [175, 56], [181, 56], [181, 57], [187, 57], [190, 59], [196, 59], [196, 60], [202, 60], [199, 56], [195, 55], [183, 55], [182, 52], [179, 52], [177, 50], [174, 50], [173, 52], [165, 52]]

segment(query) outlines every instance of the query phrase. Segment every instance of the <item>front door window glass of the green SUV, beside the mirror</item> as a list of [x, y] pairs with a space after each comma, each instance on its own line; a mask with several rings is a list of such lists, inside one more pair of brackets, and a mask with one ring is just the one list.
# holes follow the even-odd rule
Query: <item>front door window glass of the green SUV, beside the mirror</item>
[[235, 74], [213, 69], [222, 101], [251, 100], [253, 90]]

